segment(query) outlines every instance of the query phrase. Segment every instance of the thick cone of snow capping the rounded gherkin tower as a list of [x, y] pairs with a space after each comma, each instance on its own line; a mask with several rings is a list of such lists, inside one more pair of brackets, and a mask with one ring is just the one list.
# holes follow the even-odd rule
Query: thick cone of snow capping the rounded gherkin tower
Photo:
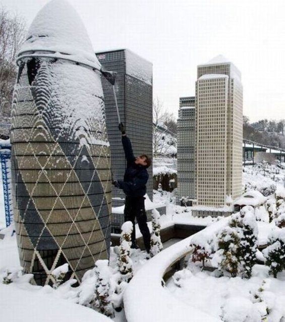
[[65, 0], [52, 0], [39, 11], [19, 56], [27, 51], [43, 51], [41, 55], [66, 58], [101, 68], [82, 20]]

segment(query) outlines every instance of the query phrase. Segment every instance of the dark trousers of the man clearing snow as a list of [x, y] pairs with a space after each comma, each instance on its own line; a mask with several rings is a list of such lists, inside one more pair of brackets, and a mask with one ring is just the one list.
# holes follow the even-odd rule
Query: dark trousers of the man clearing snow
[[126, 196], [125, 201], [125, 221], [132, 221], [133, 232], [132, 232], [132, 245], [136, 244], [136, 230], [135, 230], [135, 219], [137, 219], [140, 231], [143, 236], [144, 245], [146, 251], [150, 250], [150, 233], [147, 226], [147, 218], [144, 207], [144, 197], [130, 197]]

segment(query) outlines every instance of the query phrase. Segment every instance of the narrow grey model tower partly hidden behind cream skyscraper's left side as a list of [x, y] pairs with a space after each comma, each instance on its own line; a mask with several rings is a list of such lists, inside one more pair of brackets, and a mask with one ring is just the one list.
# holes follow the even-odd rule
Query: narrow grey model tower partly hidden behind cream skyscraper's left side
[[[195, 199], [195, 97], [181, 97], [177, 120], [177, 187], [179, 201]], [[185, 199], [184, 199], [185, 200]], [[185, 201], [186, 201], [185, 200]]]

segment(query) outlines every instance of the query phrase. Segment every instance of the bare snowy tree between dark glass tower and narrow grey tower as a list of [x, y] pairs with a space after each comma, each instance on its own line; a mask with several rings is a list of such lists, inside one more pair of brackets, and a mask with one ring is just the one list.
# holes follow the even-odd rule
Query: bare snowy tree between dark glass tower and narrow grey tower
[[168, 119], [169, 113], [163, 110], [163, 104], [156, 98], [153, 101], [153, 157], [174, 156], [177, 153], [176, 137], [165, 124]]

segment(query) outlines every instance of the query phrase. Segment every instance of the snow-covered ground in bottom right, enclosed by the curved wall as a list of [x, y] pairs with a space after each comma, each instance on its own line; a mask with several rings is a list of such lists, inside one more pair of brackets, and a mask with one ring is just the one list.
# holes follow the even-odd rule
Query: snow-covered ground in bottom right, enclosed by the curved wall
[[268, 322], [280, 322], [285, 316], [285, 273], [274, 279], [262, 265], [254, 266], [250, 279], [184, 269], [167, 287], [181, 301], [223, 321], [261, 322], [268, 312]]

